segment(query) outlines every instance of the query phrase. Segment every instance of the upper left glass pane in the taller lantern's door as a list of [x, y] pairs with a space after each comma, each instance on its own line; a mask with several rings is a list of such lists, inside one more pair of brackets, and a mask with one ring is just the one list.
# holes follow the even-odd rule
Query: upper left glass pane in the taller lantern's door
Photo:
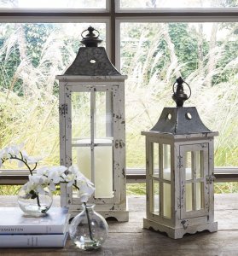
[[72, 138], [90, 138], [90, 93], [72, 92]]

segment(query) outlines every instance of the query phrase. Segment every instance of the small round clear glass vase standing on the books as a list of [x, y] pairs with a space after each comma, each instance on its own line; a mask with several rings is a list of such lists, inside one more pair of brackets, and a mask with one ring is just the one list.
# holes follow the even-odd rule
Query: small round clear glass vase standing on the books
[[34, 190], [27, 189], [27, 183], [24, 184], [18, 193], [17, 198], [20, 209], [26, 215], [33, 217], [44, 216], [52, 205], [53, 196], [47, 187], [44, 193], [38, 193]]

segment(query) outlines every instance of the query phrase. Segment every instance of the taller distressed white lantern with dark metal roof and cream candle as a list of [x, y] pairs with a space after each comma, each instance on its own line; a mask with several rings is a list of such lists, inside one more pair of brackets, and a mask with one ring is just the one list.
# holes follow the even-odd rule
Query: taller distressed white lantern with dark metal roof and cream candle
[[[84, 36], [84, 34], [86, 34]], [[98, 34], [98, 35], [97, 35]], [[77, 165], [96, 186], [91, 202], [105, 218], [128, 220], [125, 194], [125, 79], [98, 47], [93, 27], [82, 32], [78, 55], [60, 76], [61, 165]], [[76, 214], [76, 191], [61, 187], [61, 206]]]

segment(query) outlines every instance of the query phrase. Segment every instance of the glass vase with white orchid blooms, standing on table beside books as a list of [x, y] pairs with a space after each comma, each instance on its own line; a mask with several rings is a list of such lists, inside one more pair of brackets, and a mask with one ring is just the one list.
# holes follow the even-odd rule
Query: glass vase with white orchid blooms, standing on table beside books
[[78, 189], [78, 197], [82, 202], [83, 211], [73, 218], [69, 235], [76, 247], [83, 250], [93, 250], [102, 246], [108, 234], [108, 226], [105, 218], [94, 210], [94, 204], [87, 204], [94, 193], [94, 184], [78, 168], [71, 166], [68, 169], [67, 185], [73, 184]]

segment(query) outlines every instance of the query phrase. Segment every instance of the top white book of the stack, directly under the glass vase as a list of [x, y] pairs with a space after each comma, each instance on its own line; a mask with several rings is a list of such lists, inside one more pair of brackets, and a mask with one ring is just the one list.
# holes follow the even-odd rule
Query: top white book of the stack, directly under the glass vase
[[67, 207], [51, 207], [44, 217], [30, 217], [19, 207], [0, 207], [0, 234], [63, 234], [70, 214]]

